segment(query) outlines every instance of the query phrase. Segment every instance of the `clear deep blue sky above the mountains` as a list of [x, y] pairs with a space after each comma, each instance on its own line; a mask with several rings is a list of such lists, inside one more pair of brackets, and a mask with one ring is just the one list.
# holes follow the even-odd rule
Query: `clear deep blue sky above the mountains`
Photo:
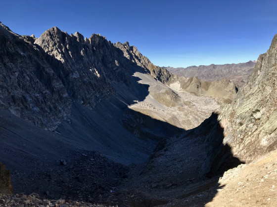
[[39, 37], [57, 26], [129, 41], [152, 63], [187, 67], [256, 60], [277, 33], [277, 0], [4, 0], [0, 21]]

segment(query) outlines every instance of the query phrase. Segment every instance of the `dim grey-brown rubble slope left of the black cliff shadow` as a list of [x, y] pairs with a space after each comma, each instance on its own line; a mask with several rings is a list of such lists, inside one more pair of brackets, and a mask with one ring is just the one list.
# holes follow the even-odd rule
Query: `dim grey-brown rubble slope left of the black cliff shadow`
[[[129, 179], [115, 192], [119, 206], [204, 206], [210, 202], [217, 192], [219, 175], [210, 178], [200, 173], [209, 127], [160, 142], [148, 162], [130, 169]], [[210, 188], [215, 190], [209, 192]]]

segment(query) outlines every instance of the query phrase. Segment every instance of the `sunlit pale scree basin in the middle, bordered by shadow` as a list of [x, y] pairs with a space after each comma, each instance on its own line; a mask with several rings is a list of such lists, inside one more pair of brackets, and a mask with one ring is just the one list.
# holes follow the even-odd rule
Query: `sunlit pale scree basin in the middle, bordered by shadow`
[[185, 130], [194, 128], [207, 119], [221, 103], [218, 98], [194, 95], [180, 87], [168, 87], [141, 73], [134, 76], [139, 83], [149, 85], [149, 94], [143, 101], [129, 106], [130, 109]]

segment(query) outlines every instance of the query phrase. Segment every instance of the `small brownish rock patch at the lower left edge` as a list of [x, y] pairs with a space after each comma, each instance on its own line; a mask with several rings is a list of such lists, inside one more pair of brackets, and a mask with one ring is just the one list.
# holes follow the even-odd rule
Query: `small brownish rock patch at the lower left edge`
[[0, 194], [13, 194], [10, 183], [10, 171], [0, 163]]

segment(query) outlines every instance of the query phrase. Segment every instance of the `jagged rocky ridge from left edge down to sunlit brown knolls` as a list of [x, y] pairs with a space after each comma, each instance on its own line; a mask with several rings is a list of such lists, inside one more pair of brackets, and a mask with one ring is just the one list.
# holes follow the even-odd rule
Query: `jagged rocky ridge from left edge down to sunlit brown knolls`
[[73, 101], [94, 109], [101, 98], [115, 96], [117, 84], [130, 85], [135, 71], [227, 102], [235, 95], [228, 81], [185, 79], [154, 66], [128, 42], [113, 44], [95, 34], [84, 39], [78, 32], [69, 35], [56, 27], [38, 39], [15, 35], [2, 24], [0, 29], [0, 106], [46, 129], [67, 120]]

